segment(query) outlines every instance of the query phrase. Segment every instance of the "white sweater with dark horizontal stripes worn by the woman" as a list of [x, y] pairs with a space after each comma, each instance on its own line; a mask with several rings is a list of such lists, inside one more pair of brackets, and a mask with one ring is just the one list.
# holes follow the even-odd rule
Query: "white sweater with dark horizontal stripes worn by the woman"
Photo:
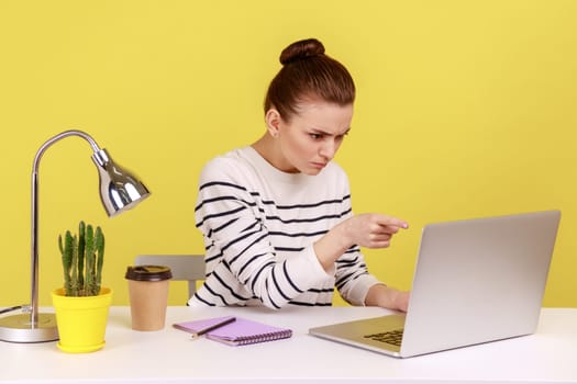
[[364, 305], [378, 280], [353, 246], [330, 271], [313, 242], [352, 215], [348, 179], [330, 162], [319, 174], [281, 172], [252, 147], [209, 161], [200, 176], [196, 225], [207, 279], [189, 305], [326, 306], [334, 289]]

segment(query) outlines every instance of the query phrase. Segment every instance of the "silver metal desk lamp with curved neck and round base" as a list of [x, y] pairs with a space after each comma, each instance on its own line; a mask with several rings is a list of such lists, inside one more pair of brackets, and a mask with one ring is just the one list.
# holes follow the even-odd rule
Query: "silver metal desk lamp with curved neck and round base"
[[[1, 313], [22, 309], [24, 313], [0, 318], [0, 340], [10, 342], [43, 342], [58, 340], [54, 314], [38, 314], [38, 165], [44, 151], [54, 143], [80, 136], [93, 149], [92, 160], [100, 176], [100, 199], [109, 217], [132, 208], [149, 195], [148, 190], [133, 174], [119, 167], [106, 149], [100, 149], [92, 137], [81, 131], [65, 131], [40, 147], [32, 169], [32, 295], [30, 305], [19, 305]], [[27, 314], [30, 312], [30, 314]]]

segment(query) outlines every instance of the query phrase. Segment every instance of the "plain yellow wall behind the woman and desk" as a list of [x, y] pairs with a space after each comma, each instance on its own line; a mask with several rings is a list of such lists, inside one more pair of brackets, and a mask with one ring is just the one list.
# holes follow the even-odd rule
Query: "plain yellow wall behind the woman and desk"
[[[51, 147], [40, 167], [41, 305], [62, 285], [57, 236], [79, 219], [103, 228], [104, 284], [126, 304], [136, 255], [202, 252], [201, 166], [264, 132], [278, 55], [311, 36], [356, 80], [336, 158], [355, 211], [411, 225], [390, 249], [366, 250], [373, 273], [409, 289], [426, 223], [558, 208], [544, 304], [577, 306], [572, 0], [2, 0], [0, 306], [30, 302], [30, 176], [46, 139], [86, 131], [153, 195], [109, 219], [88, 144]], [[170, 303], [184, 304], [174, 287]]]

